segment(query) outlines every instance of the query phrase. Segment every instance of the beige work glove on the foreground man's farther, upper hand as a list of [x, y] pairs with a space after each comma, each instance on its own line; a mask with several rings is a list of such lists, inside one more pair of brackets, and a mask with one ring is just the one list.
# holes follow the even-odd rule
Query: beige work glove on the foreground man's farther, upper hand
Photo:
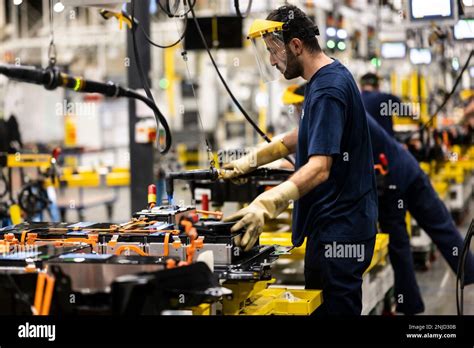
[[222, 179], [232, 180], [251, 173], [258, 167], [272, 163], [289, 154], [290, 151], [283, 144], [283, 138], [280, 137], [274, 139], [271, 143], [266, 143], [253, 149], [248, 155], [236, 161], [225, 164], [219, 174]]

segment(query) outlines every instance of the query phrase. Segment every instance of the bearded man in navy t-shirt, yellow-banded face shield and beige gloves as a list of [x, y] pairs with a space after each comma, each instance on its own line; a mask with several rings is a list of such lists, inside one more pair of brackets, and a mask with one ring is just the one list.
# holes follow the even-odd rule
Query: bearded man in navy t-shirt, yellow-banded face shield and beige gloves
[[233, 179], [294, 152], [296, 173], [227, 221], [239, 220], [234, 231], [246, 229], [240, 244], [249, 250], [265, 219], [295, 201], [293, 244], [300, 246], [307, 237], [305, 283], [323, 290], [318, 312], [360, 315], [362, 276], [372, 259], [377, 223], [372, 147], [360, 93], [350, 72], [322, 52], [317, 28], [300, 9], [283, 6], [266, 22], [262, 39], [271, 65], [288, 80], [309, 81], [304, 115], [299, 131], [228, 164], [221, 176]]

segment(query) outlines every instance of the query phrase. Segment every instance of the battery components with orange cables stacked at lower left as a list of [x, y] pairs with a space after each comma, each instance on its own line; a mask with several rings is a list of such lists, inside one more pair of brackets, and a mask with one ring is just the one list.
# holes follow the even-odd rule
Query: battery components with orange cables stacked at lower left
[[10, 304], [0, 311], [28, 314], [33, 298], [36, 314], [160, 314], [220, 301], [231, 292], [219, 279], [270, 280], [277, 258], [274, 246], [243, 252], [232, 226], [200, 219], [194, 207], [151, 205], [120, 225], [25, 222], [0, 229], [0, 277], [7, 280], [0, 297]]

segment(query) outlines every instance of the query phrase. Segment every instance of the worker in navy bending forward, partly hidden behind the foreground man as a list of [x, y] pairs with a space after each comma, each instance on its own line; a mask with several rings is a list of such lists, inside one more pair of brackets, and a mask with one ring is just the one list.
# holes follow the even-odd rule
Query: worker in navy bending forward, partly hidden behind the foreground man
[[[286, 92], [287, 101], [301, 110], [305, 85]], [[295, 94], [291, 98], [291, 94]], [[284, 100], [284, 102], [285, 102]], [[456, 273], [463, 238], [456, 229], [451, 214], [434, 191], [428, 176], [418, 162], [374, 120], [367, 115], [372, 139], [374, 162], [380, 154], [388, 159], [387, 189], [379, 196], [379, 224], [381, 231], [390, 235], [389, 256], [395, 275], [397, 312], [417, 314], [424, 311], [423, 299], [415, 277], [413, 255], [405, 216], [407, 211], [431, 237], [451, 269]], [[466, 284], [474, 283], [474, 257], [468, 256]]]

